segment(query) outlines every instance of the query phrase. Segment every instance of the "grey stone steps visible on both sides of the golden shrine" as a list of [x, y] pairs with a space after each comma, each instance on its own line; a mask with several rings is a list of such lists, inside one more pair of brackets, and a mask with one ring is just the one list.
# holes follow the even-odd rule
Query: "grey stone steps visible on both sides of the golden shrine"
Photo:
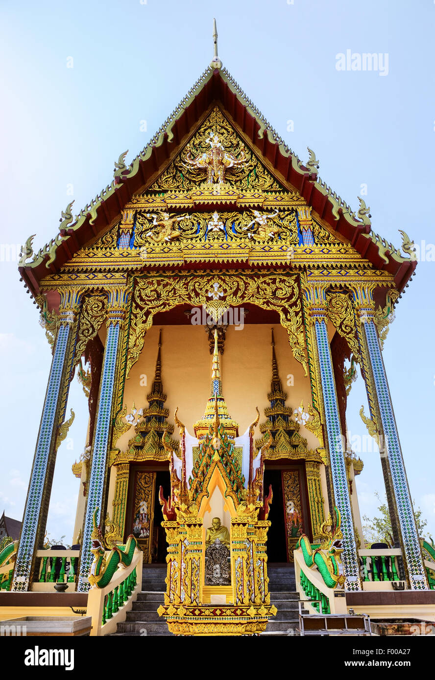
[[[165, 619], [157, 614], [166, 590], [166, 564], [144, 564], [142, 592], [127, 612], [125, 622], [118, 624], [114, 635], [172, 635]], [[278, 609], [261, 635], [289, 636], [299, 633], [299, 596], [295, 587], [295, 571], [291, 564], [268, 564], [270, 604]]]

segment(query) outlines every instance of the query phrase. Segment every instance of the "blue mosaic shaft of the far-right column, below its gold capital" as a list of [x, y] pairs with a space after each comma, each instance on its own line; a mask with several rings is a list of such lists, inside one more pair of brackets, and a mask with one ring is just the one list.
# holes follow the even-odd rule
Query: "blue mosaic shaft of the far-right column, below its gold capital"
[[413, 504], [411, 503], [408, 480], [406, 479], [402, 449], [400, 447], [378, 333], [372, 319], [372, 309], [361, 311], [361, 326], [368, 347], [374, 388], [376, 390], [376, 401], [381, 415], [385, 437], [385, 452], [393, 481], [393, 493], [398, 511], [400, 533], [402, 534], [402, 552], [406, 571], [408, 572], [410, 588], [411, 590], [425, 590], [428, 589], [428, 581], [421, 557]]

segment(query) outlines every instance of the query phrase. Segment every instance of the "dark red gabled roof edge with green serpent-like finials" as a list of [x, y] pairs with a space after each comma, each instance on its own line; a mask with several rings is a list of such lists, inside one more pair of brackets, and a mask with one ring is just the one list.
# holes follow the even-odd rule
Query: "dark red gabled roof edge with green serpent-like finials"
[[[123, 158], [126, 154], [121, 154], [112, 183], [88, 203], [75, 220], [69, 204], [62, 213], [57, 237], [39, 250], [32, 262], [25, 264], [25, 258], [20, 260], [18, 269], [33, 295], [39, 294], [39, 282], [46, 275], [59, 271], [80, 248], [108, 231], [126, 203], [134, 194], [150, 186], [187, 142], [195, 124], [216, 102], [221, 103], [236, 128], [259, 152], [277, 179], [289, 189], [297, 190], [319, 218], [325, 220], [332, 231], [348, 239], [376, 269], [389, 272], [402, 292], [417, 262], [404, 258], [400, 250], [372, 233], [369, 209], [364, 201], [360, 199], [361, 207], [355, 214], [320, 179], [315, 154], [310, 152], [306, 165], [301, 162], [226, 69], [208, 67], [131, 165], [125, 166]], [[33, 254], [31, 247], [28, 252], [30, 257]]]

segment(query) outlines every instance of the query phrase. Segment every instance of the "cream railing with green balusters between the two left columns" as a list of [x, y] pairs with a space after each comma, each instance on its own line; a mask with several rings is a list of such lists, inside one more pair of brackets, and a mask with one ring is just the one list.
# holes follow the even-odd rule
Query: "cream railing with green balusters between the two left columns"
[[31, 590], [46, 592], [54, 590], [54, 583], [67, 583], [67, 590], [76, 590], [78, 550], [38, 550], [37, 568]]

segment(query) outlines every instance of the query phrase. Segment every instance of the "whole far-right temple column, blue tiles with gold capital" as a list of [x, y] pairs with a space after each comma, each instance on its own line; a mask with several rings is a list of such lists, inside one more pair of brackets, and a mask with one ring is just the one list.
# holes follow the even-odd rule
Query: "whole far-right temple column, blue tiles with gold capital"
[[380, 435], [382, 444], [379, 448], [381, 460], [383, 460], [385, 488], [387, 496], [393, 496], [389, 500], [391, 524], [394, 532], [395, 519], [398, 521], [400, 547], [402, 548], [404, 567], [410, 589], [426, 590], [428, 589], [428, 580], [421, 556], [419, 534], [415, 523], [381, 345], [374, 323], [372, 291], [368, 289], [355, 290], [355, 303], [361, 326], [361, 349], [365, 354], [366, 363], [368, 363], [364, 372], [369, 403], [371, 402], [370, 411], [373, 409], [373, 415], [378, 416], [375, 424], [378, 426], [378, 435]]

